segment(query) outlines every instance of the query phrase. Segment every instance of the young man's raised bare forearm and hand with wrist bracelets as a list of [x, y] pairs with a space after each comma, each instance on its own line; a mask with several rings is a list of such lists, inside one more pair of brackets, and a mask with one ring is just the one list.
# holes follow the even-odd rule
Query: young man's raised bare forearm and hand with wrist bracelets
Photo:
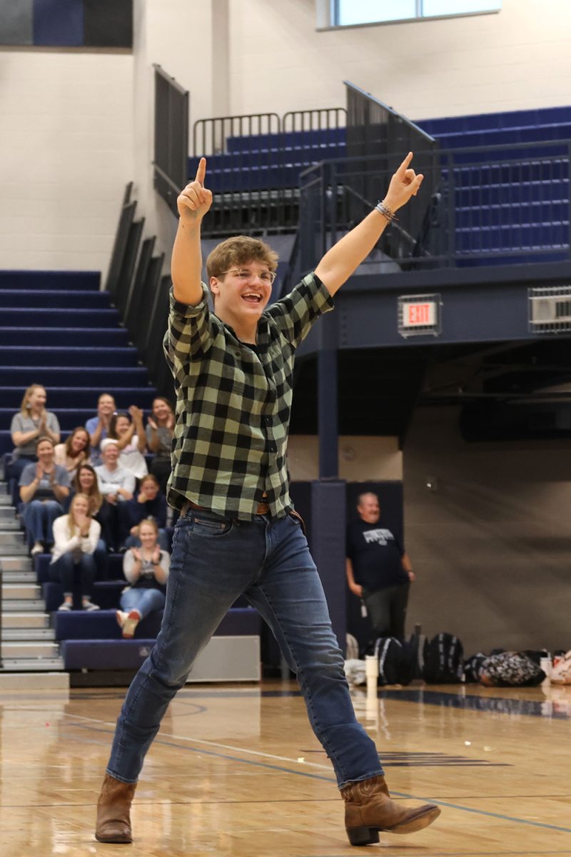
[[[390, 179], [387, 195], [384, 197], [384, 207], [390, 213], [395, 213], [406, 205], [411, 196], [416, 196], [422, 179], [410, 168], [413, 153], [409, 152], [402, 161], [395, 175]], [[315, 273], [323, 282], [330, 295], [334, 295], [343, 283], [351, 276], [360, 263], [371, 253], [373, 247], [382, 236], [390, 223], [390, 215], [385, 216], [376, 208], [361, 220], [360, 224], [343, 236], [340, 241], [327, 251], [319, 262]]]

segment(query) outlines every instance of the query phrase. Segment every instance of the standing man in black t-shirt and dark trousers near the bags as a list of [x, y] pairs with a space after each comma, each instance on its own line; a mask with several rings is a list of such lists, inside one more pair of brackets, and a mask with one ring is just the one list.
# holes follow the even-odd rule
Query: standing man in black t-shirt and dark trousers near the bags
[[379, 526], [377, 494], [360, 494], [357, 512], [347, 534], [349, 589], [364, 600], [375, 637], [403, 640], [413, 568], [396, 536]]

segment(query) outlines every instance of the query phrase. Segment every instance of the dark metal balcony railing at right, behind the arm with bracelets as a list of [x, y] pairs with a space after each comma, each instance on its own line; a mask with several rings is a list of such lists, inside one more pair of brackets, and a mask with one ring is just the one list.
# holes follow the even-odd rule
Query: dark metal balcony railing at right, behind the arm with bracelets
[[[386, 189], [401, 155], [330, 159], [300, 174], [301, 270], [374, 207], [369, 189]], [[570, 259], [570, 159], [569, 140], [440, 150], [378, 249], [403, 270]], [[422, 215], [415, 229], [402, 216], [409, 207]]]

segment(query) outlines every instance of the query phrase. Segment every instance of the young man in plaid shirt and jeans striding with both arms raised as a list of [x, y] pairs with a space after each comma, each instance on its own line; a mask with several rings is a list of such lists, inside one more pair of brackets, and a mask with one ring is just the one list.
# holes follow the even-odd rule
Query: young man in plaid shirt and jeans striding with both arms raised
[[229, 238], [208, 257], [214, 313], [208, 309], [200, 282], [200, 224], [212, 201], [205, 159], [178, 198], [164, 348], [176, 390], [169, 501], [181, 517], [163, 626], [117, 721], [98, 802], [99, 842], [131, 842], [129, 806], [146, 751], [195, 657], [241, 594], [297, 674], [346, 802], [349, 841], [378, 842], [378, 830], [420, 830], [440, 812], [390, 800], [377, 748], [354, 716], [318, 572], [289, 500], [285, 458], [295, 348], [332, 309], [332, 296], [396, 209], [417, 193], [422, 176], [410, 168], [412, 157], [383, 203], [267, 310], [277, 256], [247, 237]]

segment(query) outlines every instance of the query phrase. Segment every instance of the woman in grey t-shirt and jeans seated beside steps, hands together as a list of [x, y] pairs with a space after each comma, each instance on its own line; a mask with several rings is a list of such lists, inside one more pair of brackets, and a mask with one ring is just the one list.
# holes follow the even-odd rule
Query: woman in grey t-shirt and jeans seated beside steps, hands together
[[53, 544], [52, 524], [63, 514], [69, 494], [65, 467], [54, 464], [54, 444], [49, 437], [36, 442], [37, 464], [27, 464], [20, 476], [21, 515], [30, 553], [41, 554]]

